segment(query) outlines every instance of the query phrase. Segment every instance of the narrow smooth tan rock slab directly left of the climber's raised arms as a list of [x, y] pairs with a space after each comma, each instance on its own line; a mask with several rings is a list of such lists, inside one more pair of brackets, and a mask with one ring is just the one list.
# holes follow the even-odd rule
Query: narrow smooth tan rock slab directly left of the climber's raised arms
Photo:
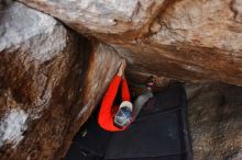
[[[58, 152], [61, 157], [65, 156], [74, 136], [101, 100], [110, 81], [118, 72], [119, 66], [120, 56], [112, 47], [106, 44], [98, 44], [90, 54], [84, 75], [85, 78], [81, 82], [80, 99], [76, 102], [75, 107], [72, 108], [75, 119], [68, 124], [69, 128], [65, 135], [65, 142]], [[76, 82], [74, 81], [74, 83]], [[59, 156], [58, 153], [56, 156]]]

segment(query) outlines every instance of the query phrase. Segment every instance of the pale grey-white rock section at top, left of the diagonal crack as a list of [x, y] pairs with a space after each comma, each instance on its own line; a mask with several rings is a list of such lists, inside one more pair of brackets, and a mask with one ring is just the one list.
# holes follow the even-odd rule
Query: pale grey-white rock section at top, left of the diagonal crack
[[[148, 25], [168, 0], [20, 0], [58, 18], [82, 33], [113, 34], [135, 37], [148, 31]], [[142, 31], [142, 33], [141, 33]]]

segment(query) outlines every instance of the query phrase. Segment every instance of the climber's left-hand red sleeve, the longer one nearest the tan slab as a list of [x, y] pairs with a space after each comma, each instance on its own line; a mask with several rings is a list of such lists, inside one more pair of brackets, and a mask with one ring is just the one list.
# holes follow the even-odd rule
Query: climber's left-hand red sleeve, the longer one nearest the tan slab
[[106, 130], [119, 129], [113, 125], [112, 105], [119, 89], [120, 81], [121, 77], [116, 76], [113, 78], [101, 103], [100, 112], [98, 115], [98, 123]]

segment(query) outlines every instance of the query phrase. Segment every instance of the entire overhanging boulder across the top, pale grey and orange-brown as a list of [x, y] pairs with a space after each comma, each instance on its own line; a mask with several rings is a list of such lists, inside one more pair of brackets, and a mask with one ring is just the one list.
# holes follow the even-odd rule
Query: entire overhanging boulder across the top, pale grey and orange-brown
[[[100, 24], [102, 18], [114, 21], [122, 16], [124, 21], [138, 1], [19, 1], [52, 14], [79, 33], [127, 49], [129, 68], [135, 72], [151, 72], [182, 81], [216, 80], [242, 84], [241, 0], [140, 0], [138, 14], [133, 14], [127, 25], [119, 21], [116, 25]], [[102, 11], [105, 2], [109, 14]], [[145, 8], [148, 4], [160, 11], [155, 14]], [[148, 22], [144, 21], [146, 18]], [[138, 25], [140, 20], [144, 27]], [[124, 32], [128, 28], [130, 31]]]

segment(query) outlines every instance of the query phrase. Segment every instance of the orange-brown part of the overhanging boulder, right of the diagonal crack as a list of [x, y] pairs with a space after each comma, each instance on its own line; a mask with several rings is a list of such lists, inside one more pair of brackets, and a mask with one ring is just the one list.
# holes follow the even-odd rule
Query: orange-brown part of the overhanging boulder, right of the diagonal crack
[[132, 52], [130, 70], [241, 84], [240, 12], [238, 1], [176, 1], [154, 19], [144, 38], [110, 42]]

